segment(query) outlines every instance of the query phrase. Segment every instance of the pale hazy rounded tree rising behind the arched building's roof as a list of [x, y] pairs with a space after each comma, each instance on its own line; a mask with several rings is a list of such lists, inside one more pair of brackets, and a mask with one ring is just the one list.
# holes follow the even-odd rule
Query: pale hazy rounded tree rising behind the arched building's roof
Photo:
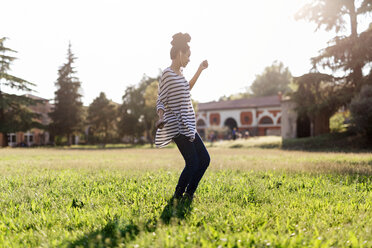
[[282, 62], [274, 61], [261, 75], [256, 75], [251, 90], [254, 96], [272, 96], [278, 92], [285, 94], [291, 91], [289, 88], [291, 79], [288, 67], [284, 67]]

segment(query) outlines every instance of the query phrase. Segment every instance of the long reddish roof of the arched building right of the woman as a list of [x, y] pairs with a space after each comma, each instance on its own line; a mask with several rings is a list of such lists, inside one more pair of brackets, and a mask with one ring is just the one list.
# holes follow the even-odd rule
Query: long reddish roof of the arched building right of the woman
[[280, 98], [275, 96], [262, 96], [255, 98], [244, 98], [230, 101], [213, 101], [198, 104], [198, 111], [221, 110], [221, 109], [241, 109], [255, 107], [279, 107]]

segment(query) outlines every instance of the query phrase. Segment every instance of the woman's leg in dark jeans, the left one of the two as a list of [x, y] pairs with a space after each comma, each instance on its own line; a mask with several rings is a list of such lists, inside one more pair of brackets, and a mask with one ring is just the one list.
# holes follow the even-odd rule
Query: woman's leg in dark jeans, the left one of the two
[[180, 198], [199, 167], [199, 159], [195, 148], [195, 141], [189, 141], [189, 138], [182, 134], [173, 138], [173, 140], [185, 160], [185, 168], [178, 179], [178, 184], [174, 193], [176, 198]]

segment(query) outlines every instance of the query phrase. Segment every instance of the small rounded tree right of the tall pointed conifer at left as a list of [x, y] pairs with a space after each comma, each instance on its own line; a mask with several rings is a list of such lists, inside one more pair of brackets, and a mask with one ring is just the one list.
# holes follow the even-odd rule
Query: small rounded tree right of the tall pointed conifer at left
[[109, 134], [113, 135], [116, 114], [116, 106], [103, 92], [89, 105], [87, 123], [91, 126], [93, 134], [103, 139], [104, 143], [107, 143]]

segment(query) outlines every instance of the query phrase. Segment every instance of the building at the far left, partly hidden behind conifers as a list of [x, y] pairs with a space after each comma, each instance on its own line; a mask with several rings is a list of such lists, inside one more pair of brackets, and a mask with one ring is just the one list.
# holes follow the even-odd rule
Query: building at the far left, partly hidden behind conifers
[[[41, 124], [44, 126], [49, 125], [51, 122], [51, 119], [48, 116], [48, 113], [52, 110], [53, 105], [49, 103], [49, 100], [34, 96], [31, 94], [26, 94], [25, 96], [35, 99], [35, 100], [41, 100], [42, 103], [37, 103], [34, 106], [29, 106], [30, 110], [40, 114], [40, 119], [38, 120]], [[46, 145], [50, 143], [50, 136], [49, 132], [45, 130], [40, 130], [37, 128], [33, 128], [31, 130], [28, 130], [27, 132], [17, 132], [17, 133], [9, 133], [7, 135], [8, 137], [3, 137], [2, 134], [0, 134], [0, 145], [3, 146], [4, 139], [8, 138], [8, 145], [9, 146], [17, 146], [17, 145], [27, 145], [27, 146], [33, 146], [33, 145]]]

